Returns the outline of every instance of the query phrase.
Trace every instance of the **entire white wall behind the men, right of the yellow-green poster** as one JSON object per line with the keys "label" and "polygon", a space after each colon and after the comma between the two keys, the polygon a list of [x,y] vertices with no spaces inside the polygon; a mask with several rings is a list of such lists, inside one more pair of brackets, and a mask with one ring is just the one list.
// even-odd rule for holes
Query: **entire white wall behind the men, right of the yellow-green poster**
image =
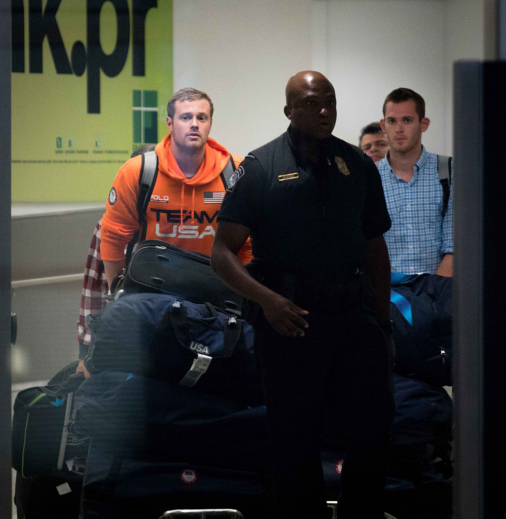
{"label": "entire white wall behind the men, right of the yellow-green poster", "polygon": [[357,143],[394,88],[425,98],[422,142],[452,153],[453,61],[483,57],[486,0],[173,0],[174,89],[206,90],[211,136],[246,154],[288,126],[284,88],[316,69],[334,84],[334,134]]}

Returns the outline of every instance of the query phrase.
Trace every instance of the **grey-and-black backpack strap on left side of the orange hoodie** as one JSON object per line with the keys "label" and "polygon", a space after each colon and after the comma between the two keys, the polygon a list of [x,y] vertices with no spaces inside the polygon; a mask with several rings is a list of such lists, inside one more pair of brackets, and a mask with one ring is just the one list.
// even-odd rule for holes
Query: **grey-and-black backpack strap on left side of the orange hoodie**
{"label": "grey-and-black backpack strap on left side of the orange hoodie", "polygon": [[143,153],[141,155],[141,171],[139,172],[139,195],[137,197],[137,214],[140,231],[136,231],[127,245],[127,252],[125,254],[126,264],[130,262],[133,249],[137,243],[146,239],[147,221],[146,210],[153,194],[153,189],[158,175],[158,155],[153,150],[151,152]]}

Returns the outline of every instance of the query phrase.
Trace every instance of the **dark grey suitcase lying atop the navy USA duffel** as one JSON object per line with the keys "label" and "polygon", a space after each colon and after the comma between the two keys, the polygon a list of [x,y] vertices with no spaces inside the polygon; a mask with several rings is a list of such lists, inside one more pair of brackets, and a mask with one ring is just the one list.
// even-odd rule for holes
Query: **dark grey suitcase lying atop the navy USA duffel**
{"label": "dark grey suitcase lying atop the navy USA duffel", "polygon": [[115,298],[139,292],[170,294],[192,303],[211,303],[237,315],[243,303],[215,274],[209,256],[160,240],[139,245],[111,292]]}

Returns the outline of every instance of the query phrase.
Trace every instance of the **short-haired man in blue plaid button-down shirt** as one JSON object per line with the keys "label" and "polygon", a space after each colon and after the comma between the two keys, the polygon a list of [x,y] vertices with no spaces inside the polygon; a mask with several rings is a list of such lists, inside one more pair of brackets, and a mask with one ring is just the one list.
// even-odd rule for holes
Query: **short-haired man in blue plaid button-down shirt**
{"label": "short-haired man in blue plaid button-down shirt", "polygon": [[392,220],[385,233],[391,270],[452,276],[453,186],[445,207],[437,155],[421,144],[430,122],[425,101],[409,88],[397,88],[387,95],[383,116],[389,151],[377,166]]}

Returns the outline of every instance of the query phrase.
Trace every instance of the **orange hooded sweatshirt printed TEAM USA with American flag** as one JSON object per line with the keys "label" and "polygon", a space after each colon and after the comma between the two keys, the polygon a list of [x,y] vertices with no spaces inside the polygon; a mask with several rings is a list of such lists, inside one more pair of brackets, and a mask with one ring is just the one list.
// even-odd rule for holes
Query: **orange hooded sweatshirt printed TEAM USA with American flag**
{"label": "orange hooded sweatshirt printed TEAM USA with American flag", "polygon": [[[146,240],[162,240],[181,249],[211,254],[216,233],[216,216],[225,196],[220,173],[230,153],[208,139],[206,154],[197,174],[187,179],[170,149],[170,134],[159,142],[158,175],[146,210]],[[241,159],[234,156],[236,167]],[[100,253],[103,260],[125,257],[125,246],[139,229],[137,196],[141,156],[119,168],[102,217]],[[238,254],[245,264],[252,259],[250,240]]]}

